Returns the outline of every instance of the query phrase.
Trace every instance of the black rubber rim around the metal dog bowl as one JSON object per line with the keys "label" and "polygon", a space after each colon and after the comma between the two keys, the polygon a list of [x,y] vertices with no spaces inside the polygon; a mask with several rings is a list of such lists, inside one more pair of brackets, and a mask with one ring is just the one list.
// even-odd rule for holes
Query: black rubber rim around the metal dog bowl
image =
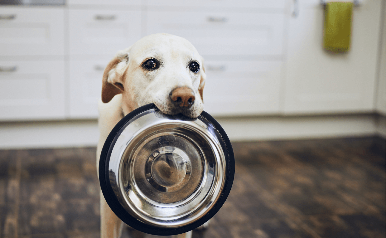
{"label": "black rubber rim around the metal dog bowl", "polygon": [[151,226],[149,224],[145,224],[138,219],[131,216],[119,203],[117,197],[115,196],[113,189],[110,184],[110,179],[108,176],[108,164],[110,162],[110,147],[113,147],[115,145],[116,136],[117,133],[120,131],[122,126],[124,126],[130,119],[135,117],[136,115],[145,112],[149,109],[157,109],[156,105],[154,104],[147,104],[142,107],[139,107],[129,114],[127,114],[124,118],[122,118],[117,125],[112,129],[110,134],[107,136],[107,139],[105,141],[105,144],[103,145],[102,152],[100,155],[99,160],[99,183],[100,187],[103,193],[103,196],[106,199],[106,202],[108,206],[110,206],[111,210],[118,216],[119,219],[121,219],[124,223],[128,224],[132,228],[142,231],[144,233],[148,233],[151,235],[177,235],[181,233],[185,233],[188,231],[191,231],[205,222],[207,222],[210,218],[212,218],[218,210],[222,207],[225,200],[227,199],[230,189],[232,188],[233,179],[235,175],[235,158],[233,154],[232,145],[230,144],[229,138],[227,134],[225,133],[224,129],[220,126],[220,124],[207,112],[203,111],[199,117],[204,117],[207,119],[212,125],[217,129],[217,131],[222,136],[223,141],[225,142],[225,148],[223,147],[223,151],[226,154],[227,153],[227,162],[226,162],[226,169],[227,169],[227,179],[225,180],[224,189],[222,193],[220,194],[220,198],[216,202],[216,204],[208,211],[205,216],[198,219],[194,223],[188,224],[186,226],[178,227],[178,228],[160,228],[157,226]]}

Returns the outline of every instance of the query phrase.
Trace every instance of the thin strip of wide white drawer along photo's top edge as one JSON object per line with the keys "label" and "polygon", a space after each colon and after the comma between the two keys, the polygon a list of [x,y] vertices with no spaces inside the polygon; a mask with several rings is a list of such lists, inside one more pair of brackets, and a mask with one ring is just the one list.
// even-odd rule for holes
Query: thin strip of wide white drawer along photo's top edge
{"label": "thin strip of wide white drawer along photo's top edge", "polygon": [[149,6],[179,6],[179,7],[256,7],[256,8],[284,8],[285,0],[147,0]]}

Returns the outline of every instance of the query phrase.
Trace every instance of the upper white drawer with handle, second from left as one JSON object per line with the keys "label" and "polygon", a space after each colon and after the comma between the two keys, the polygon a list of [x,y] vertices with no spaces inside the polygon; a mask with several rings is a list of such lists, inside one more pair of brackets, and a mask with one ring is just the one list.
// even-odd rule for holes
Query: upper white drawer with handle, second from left
{"label": "upper white drawer with handle, second from left", "polygon": [[115,55],[141,38],[141,11],[69,10],[70,54]]}

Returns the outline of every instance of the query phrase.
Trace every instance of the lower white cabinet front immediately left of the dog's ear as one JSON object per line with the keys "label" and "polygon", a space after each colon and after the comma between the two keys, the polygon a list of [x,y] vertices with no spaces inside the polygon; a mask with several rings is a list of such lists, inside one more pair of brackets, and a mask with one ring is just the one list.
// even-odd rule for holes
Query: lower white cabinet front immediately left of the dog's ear
{"label": "lower white cabinet front immediately left of the dog's ear", "polygon": [[97,118],[102,75],[108,60],[70,61],[70,117]]}

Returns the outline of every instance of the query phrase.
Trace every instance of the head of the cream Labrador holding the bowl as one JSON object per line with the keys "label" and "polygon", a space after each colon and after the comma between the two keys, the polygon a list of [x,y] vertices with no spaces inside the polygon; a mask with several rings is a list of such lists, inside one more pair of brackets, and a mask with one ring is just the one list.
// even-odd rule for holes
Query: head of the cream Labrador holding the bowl
{"label": "head of the cream Labrador holding the bowl", "polygon": [[122,93],[122,110],[154,103],[166,114],[198,117],[203,110],[203,59],[186,39],[153,34],[120,51],[103,73],[102,102]]}

